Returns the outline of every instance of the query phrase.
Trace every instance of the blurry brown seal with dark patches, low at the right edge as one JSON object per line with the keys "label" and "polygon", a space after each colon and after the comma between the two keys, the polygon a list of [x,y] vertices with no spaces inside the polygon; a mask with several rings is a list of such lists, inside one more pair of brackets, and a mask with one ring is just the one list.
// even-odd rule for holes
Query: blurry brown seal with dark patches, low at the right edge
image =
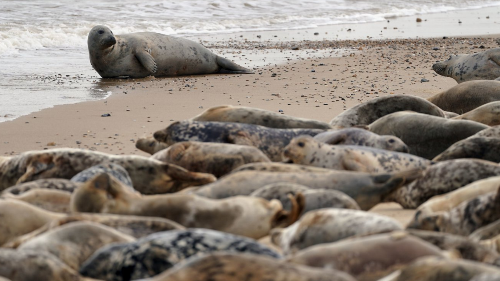
{"label": "blurry brown seal with dark patches, low at the right edge", "polygon": [[500,253],[472,239],[446,232],[411,229],[405,230],[412,236],[432,243],[442,250],[458,254],[457,257],[500,265]]}

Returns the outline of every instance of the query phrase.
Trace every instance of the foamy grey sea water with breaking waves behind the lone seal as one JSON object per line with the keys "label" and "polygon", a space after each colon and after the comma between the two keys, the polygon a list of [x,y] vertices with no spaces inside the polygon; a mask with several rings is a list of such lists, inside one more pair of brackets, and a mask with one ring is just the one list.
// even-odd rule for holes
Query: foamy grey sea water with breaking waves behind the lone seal
{"label": "foamy grey sea water with breaking waves behind the lone seal", "polygon": [[110,92],[88,61],[97,24],[185,37],[314,28],[499,6],[498,0],[0,0],[0,122]]}

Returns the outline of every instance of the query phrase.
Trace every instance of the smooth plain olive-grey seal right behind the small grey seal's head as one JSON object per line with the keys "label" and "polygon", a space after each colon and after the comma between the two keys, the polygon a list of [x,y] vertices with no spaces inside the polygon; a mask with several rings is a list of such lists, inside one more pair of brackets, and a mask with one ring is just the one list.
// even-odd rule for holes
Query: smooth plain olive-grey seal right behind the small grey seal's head
{"label": "smooth plain olive-grey seal right behind the small grey seal's head", "polygon": [[385,115],[368,125],[370,131],[399,137],[409,153],[434,158],[458,140],[488,128],[470,120],[453,120],[428,114],[402,111]]}

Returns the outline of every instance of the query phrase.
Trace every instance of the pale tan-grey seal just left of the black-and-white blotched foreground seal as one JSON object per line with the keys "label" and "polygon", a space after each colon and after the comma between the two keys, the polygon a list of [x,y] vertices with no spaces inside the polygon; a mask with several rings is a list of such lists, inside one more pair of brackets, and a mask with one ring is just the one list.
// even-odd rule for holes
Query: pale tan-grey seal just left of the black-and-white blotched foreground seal
{"label": "pale tan-grey seal just left of the black-and-white blotched foreground seal", "polygon": [[132,241],[135,241],[134,237],[103,224],[75,221],[33,237],[17,249],[50,252],[69,267],[78,270],[83,261],[100,247]]}

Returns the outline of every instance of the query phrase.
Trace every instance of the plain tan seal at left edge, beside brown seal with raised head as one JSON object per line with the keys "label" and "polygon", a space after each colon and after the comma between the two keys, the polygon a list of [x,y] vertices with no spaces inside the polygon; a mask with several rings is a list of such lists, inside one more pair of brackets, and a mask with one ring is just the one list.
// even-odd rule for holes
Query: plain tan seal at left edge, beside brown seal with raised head
{"label": "plain tan seal at left edge, beside brown seal with raised head", "polygon": [[58,189],[35,188],[18,195],[7,192],[0,197],[14,198],[49,211],[67,213],[71,193]]}

